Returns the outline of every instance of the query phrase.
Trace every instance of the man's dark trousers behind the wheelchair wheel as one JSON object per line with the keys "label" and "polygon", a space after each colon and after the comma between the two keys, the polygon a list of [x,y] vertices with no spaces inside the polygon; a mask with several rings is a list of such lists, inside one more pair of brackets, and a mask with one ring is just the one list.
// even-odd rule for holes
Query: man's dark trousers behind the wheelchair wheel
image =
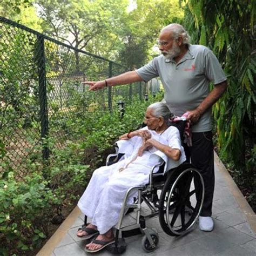
{"label": "man's dark trousers behind the wheelchair wheel", "polygon": [[[205,185],[205,198],[201,216],[212,215],[212,200],[214,192],[214,161],[212,131],[192,132],[192,146],[184,146],[187,159],[190,159],[201,173]],[[196,186],[196,184],[195,184]]]}

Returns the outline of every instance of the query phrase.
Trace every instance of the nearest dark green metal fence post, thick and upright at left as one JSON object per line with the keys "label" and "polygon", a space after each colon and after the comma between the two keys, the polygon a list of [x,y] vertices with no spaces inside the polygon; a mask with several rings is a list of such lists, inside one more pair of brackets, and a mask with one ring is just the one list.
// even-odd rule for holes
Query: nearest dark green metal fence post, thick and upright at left
{"label": "nearest dark green metal fence post, thick and upright at left", "polygon": [[[36,43],[36,63],[38,70],[39,83],[39,116],[41,121],[41,138],[46,138],[49,133],[48,110],[47,110],[47,93],[46,93],[46,70],[45,70],[45,54],[44,54],[44,37],[37,36]],[[43,159],[49,159],[49,148],[47,145],[43,146]]]}

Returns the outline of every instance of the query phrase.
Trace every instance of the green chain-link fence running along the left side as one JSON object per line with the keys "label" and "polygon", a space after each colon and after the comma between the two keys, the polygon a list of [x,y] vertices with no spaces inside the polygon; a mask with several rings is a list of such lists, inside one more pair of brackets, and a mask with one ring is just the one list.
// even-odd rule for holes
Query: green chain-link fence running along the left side
{"label": "green chain-link fence running along the left side", "polygon": [[[78,50],[21,24],[0,17],[0,136],[2,163],[18,176],[24,159],[50,135],[57,146],[79,136],[76,121],[88,110],[111,111],[118,100],[131,103],[159,90],[158,81],[89,92],[81,82],[126,71],[125,66]],[[151,89],[150,89],[151,88]],[[78,138],[77,138],[78,139]],[[37,152],[38,153],[38,152]],[[47,147],[43,158],[49,158]],[[5,165],[0,165],[0,172]]]}

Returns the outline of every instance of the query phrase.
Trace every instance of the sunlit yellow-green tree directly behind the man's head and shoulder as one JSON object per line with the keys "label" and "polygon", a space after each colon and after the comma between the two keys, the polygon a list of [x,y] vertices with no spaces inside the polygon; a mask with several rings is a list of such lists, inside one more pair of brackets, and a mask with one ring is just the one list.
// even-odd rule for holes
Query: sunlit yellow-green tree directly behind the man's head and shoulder
{"label": "sunlit yellow-green tree directly behind the man's head and shoulder", "polygon": [[179,1],[137,0],[123,30],[124,47],[119,53],[122,62],[133,69],[142,66],[155,55],[152,52],[163,26],[180,22],[184,12]]}

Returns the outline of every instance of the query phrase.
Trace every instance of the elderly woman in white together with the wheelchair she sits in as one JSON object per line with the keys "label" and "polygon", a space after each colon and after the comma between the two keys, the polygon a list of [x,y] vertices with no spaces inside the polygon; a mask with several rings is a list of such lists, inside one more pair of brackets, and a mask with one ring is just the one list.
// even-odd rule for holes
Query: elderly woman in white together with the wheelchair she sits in
{"label": "elderly woman in white together with the wheelchair she sits in", "polygon": [[[139,224],[139,230],[145,234],[144,250],[154,250],[158,243],[158,235],[153,231],[147,231],[145,219],[140,216],[142,201],[144,200],[147,203],[147,198],[151,200],[147,205],[151,208],[152,216],[162,212],[161,214],[164,217],[160,222],[162,222],[161,226],[166,233],[179,235],[194,224],[193,220],[198,217],[201,200],[203,200],[202,188],[197,191],[198,193],[196,193],[196,190],[194,190],[195,192],[190,192],[191,180],[195,178],[194,172],[192,176],[188,176],[186,173],[183,174],[183,179],[178,181],[176,187],[169,184],[164,188],[165,194],[161,195],[162,206],[160,208],[157,208],[159,207],[157,205],[157,201],[159,204],[157,190],[163,188],[163,180],[160,182],[160,187],[152,186],[155,173],[166,179],[166,170],[178,167],[186,160],[184,149],[181,146],[179,130],[174,126],[169,126],[170,116],[171,112],[164,103],[151,104],[145,113],[144,123],[146,126],[140,130],[123,134],[119,138],[117,145],[119,153],[124,153],[123,159],[112,165],[100,167],[93,172],[90,183],[78,201],[78,207],[85,214],[86,219],[87,217],[91,218],[91,223],[86,224],[85,219],[85,225],[79,228],[77,236],[83,239],[95,238],[86,245],[85,250],[87,252],[98,252],[112,244],[116,246],[114,252],[123,252],[122,249],[121,251],[117,250],[118,231],[122,224],[125,210],[129,207],[137,208],[139,211],[139,215],[137,213],[137,224]],[[165,167],[159,167],[161,163],[165,163]],[[159,169],[164,169],[164,171],[159,174]],[[191,170],[188,172],[191,173]],[[175,179],[180,176],[179,174],[180,172],[174,175]],[[172,177],[172,184],[175,183],[175,179]],[[197,178],[198,180],[201,181],[201,177]],[[181,183],[186,186],[186,193],[179,191],[180,189],[177,188]],[[148,184],[150,186],[145,192]],[[170,191],[171,196],[168,197]],[[200,198],[200,204],[191,206],[190,197],[187,197],[187,194],[196,194],[197,199],[198,197]],[[181,196],[186,197],[185,199],[183,198],[184,203],[182,206],[181,203],[177,203],[177,200],[180,202],[179,197]],[[137,203],[135,203],[135,199]],[[150,203],[153,203],[153,205],[150,206]],[[178,212],[177,205],[180,208]],[[194,218],[190,218],[188,221],[185,221],[184,217],[185,205],[187,208],[191,208],[192,215],[194,214]],[[176,211],[174,213],[173,208]],[[178,229],[172,230],[174,223],[170,223],[170,214],[181,214],[181,228],[178,227]],[[113,227],[117,224],[115,238]]]}

